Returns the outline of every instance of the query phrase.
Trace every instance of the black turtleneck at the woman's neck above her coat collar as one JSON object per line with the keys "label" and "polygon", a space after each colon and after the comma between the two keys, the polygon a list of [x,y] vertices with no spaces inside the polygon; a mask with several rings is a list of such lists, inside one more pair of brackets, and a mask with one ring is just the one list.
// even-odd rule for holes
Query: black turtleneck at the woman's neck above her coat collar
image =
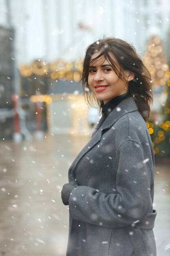
{"label": "black turtleneck at the woman's neck above her coat collar", "polygon": [[104,118],[108,117],[110,112],[124,99],[129,97],[129,92],[126,92],[124,94],[118,95],[117,97],[111,99],[108,101],[106,104],[103,102],[101,103],[101,108],[102,108],[102,115],[104,115]]}

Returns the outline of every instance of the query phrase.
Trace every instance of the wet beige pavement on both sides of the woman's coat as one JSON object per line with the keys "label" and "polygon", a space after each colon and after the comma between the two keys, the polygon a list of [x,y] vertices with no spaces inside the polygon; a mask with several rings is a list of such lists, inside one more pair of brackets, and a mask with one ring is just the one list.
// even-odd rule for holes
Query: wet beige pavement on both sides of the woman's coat
{"label": "wet beige pavement on both sides of the woman's coat", "polygon": [[[65,256],[68,168],[89,136],[0,142],[0,256]],[[170,166],[155,167],[157,256],[170,255]],[[169,248],[169,249],[168,249]]]}

